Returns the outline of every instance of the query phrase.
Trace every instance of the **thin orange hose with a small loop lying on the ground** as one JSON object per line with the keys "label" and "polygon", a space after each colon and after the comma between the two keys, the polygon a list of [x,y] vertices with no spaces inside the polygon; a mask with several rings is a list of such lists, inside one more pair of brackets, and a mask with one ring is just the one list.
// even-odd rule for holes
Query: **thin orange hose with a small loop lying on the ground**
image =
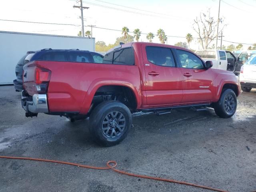
{"label": "thin orange hose with a small loop lying on the ground", "polygon": [[[115,172],[118,172],[118,173],[121,173],[121,174],[125,174],[125,175],[129,175],[129,176],[133,176],[133,177],[140,177],[140,178],[153,179],[153,180],[158,180],[158,181],[166,181],[166,182],[171,182],[171,183],[190,185],[190,186],[204,188],[204,189],[209,189],[209,190],[218,191],[218,192],[228,192],[228,191],[225,191],[225,190],[211,188],[211,187],[207,187],[207,186],[203,186],[203,185],[197,185],[197,184],[188,183],[188,182],[184,182],[184,181],[178,181],[178,180],[166,179],[166,178],[159,178],[159,177],[152,177],[152,176],[146,176],[146,175],[138,175],[138,174],[134,174],[134,173],[129,173],[129,172],[121,171],[121,170],[118,170],[118,169],[115,168],[117,166],[117,162],[116,161],[108,161],[106,167],[94,167],[94,166],[82,165],[82,164],[77,164],[77,163],[70,163],[70,162],[65,162],[65,161],[56,161],[56,160],[48,160],[48,159],[37,159],[37,158],[30,158],[30,157],[0,156],[0,158],[44,161],[44,162],[52,162],[52,163],[74,165],[74,166],[78,166],[78,167],[89,168],[89,169],[98,169],[98,170],[112,169]],[[113,165],[111,165],[111,164],[113,164]]]}

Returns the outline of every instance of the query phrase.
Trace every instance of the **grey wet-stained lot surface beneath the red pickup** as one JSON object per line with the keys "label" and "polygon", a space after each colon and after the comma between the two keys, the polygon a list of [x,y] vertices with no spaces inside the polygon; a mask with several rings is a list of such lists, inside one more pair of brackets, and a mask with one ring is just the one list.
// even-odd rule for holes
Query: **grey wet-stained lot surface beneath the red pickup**
{"label": "grey wet-stained lot surface beneath the red pickup", "polygon": [[[214,110],[173,110],[134,117],[128,137],[100,147],[88,120],[26,118],[20,92],[0,86],[0,155],[46,158],[117,168],[228,190],[256,190],[256,90],[242,92],[229,119]],[[0,159],[0,192],[206,192],[210,190],[47,162]]]}

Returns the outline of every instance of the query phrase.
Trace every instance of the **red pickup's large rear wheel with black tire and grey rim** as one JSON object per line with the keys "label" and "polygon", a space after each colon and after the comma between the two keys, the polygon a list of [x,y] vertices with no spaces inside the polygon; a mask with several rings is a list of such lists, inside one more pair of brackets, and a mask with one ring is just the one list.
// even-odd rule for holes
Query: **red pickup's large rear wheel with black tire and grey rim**
{"label": "red pickup's large rear wheel with black tire and grey rim", "polygon": [[98,144],[114,146],[126,138],[132,127],[132,114],[118,101],[100,103],[90,115],[90,134]]}

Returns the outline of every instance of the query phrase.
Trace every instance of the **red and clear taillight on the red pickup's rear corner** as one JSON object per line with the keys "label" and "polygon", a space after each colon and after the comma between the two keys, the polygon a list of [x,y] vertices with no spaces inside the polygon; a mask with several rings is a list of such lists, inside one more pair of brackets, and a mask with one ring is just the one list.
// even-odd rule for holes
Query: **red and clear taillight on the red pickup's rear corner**
{"label": "red and clear taillight on the red pickup's rear corner", "polygon": [[35,69],[35,88],[37,92],[47,92],[51,77],[51,71],[45,68],[36,67]]}

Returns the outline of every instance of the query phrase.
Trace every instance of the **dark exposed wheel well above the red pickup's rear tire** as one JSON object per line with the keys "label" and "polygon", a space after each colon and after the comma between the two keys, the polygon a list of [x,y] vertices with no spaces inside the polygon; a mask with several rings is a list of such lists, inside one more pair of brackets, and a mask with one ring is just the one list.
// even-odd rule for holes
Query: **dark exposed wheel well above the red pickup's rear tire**
{"label": "dark exposed wheel well above the red pickup's rear tire", "polygon": [[107,100],[116,100],[125,104],[131,111],[136,110],[137,101],[132,89],[126,86],[107,85],[98,88],[92,100],[92,108]]}

